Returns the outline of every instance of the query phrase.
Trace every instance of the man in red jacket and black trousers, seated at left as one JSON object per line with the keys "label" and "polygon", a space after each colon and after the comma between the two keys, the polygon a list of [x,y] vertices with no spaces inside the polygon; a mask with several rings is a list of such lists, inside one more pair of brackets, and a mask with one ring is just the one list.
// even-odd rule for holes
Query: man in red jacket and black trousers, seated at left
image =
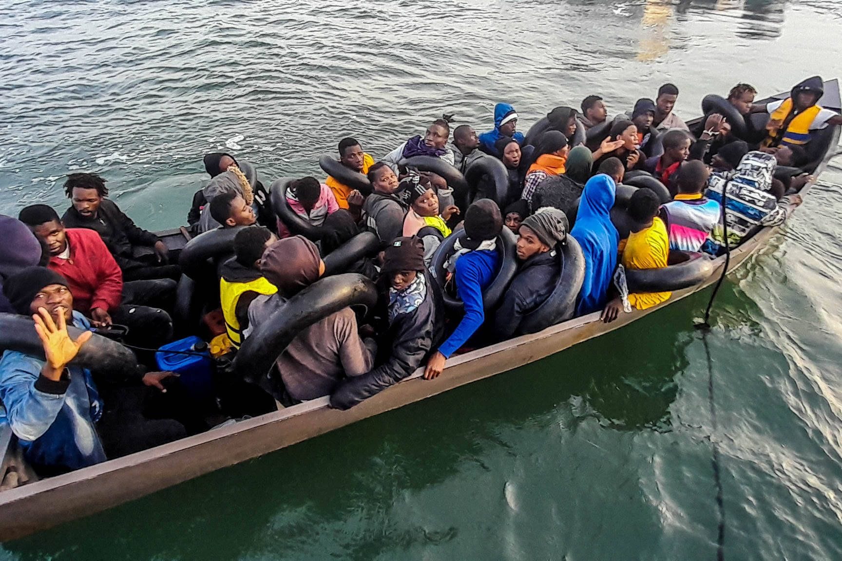
{"label": "man in red jacket and black trousers, seated at left", "polygon": [[58,214],[46,204],[20,211],[18,220],[35,233],[50,251],[47,267],[67,278],[73,309],[91,318],[94,326],[112,324],[129,328],[126,342],[157,348],[173,334],[173,320],[159,308],[171,300],[175,281],[142,280],[123,283],[123,273],[104,241],[93,230],[65,229]]}

